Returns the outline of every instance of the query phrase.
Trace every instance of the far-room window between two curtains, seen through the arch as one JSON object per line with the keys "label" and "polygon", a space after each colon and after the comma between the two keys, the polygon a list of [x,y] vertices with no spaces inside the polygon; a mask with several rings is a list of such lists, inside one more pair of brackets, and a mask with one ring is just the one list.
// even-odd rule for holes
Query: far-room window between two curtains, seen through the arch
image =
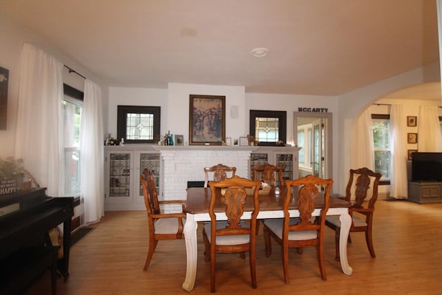
{"label": "far-room window between two curtains, seen through the arch", "polygon": [[374,171],[390,180],[390,115],[372,115]]}

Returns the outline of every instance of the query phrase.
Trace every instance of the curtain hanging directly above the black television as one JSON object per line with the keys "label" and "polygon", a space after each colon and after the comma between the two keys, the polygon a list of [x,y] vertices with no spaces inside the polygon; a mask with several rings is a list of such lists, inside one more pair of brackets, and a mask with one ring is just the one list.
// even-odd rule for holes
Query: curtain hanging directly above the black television
{"label": "curtain hanging directly above the black television", "polygon": [[442,135],[437,106],[419,106],[417,128],[419,151],[442,152]]}

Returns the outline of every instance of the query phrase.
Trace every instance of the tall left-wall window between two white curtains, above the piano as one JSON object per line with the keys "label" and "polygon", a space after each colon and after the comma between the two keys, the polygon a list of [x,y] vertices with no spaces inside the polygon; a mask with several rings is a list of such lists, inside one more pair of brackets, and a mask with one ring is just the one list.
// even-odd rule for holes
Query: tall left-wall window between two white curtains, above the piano
{"label": "tall left-wall window between two white curtains, above the piano", "polygon": [[64,142],[64,195],[80,193],[80,124],[84,93],[64,84],[63,142]]}

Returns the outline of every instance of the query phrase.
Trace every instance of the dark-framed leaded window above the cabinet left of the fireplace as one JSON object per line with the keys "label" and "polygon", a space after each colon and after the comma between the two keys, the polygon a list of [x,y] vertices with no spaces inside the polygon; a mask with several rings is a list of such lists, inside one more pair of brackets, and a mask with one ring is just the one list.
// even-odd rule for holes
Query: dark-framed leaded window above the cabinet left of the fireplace
{"label": "dark-framed leaded window above the cabinet left of the fireplace", "polygon": [[160,106],[118,106],[117,139],[127,143],[160,140]]}

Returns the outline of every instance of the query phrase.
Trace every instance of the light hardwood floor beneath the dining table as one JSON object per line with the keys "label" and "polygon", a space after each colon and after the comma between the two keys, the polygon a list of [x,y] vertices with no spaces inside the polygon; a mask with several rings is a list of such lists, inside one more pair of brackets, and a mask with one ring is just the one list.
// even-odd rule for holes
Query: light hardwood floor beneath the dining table
{"label": "light hardwood floor beneath the dining table", "polygon": [[[110,211],[96,229],[71,250],[70,276],[57,282],[58,294],[186,294],[184,240],[160,241],[151,265],[143,272],[148,229],[144,211]],[[442,294],[442,204],[414,204],[378,200],[374,216],[371,258],[362,233],[352,234],[346,276],[334,260],[334,231],[327,229],[327,281],[320,278],[316,252],[291,250],[291,284],[285,285],[280,248],[264,255],[262,229],[257,243],[258,289],[251,289],[248,259],[237,254],[217,256],[217,294]],[[201,227],[198,228],[198,270],[191,294],[210,291],[209,263],[204,263]],[[42,278],[27,295],[48,294]]]}

